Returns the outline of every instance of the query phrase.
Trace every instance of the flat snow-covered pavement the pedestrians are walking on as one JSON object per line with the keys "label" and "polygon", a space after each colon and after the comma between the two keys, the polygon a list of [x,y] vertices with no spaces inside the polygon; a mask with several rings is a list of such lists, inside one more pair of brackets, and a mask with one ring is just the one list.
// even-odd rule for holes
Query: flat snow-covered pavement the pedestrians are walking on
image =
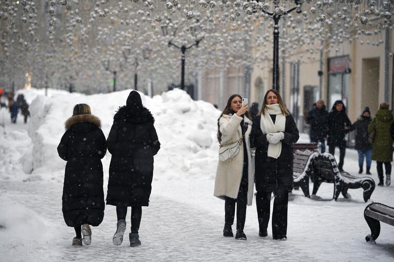
{"label": "flat snow-covered pavement the pedestrians are walking on", "polygon": [[[224,202],[212,197],[213,181],[156,181],[153,183],[151,203],[143,208],[140,228],[142,246],[130,248],[127,234],[124,243],[112,244],[116,229],[115,207],[106,206],[103,223],[92,228],[90,246],[71,246],[73,228],[67,227],[62,215],[62,184],[57,182],[2,182],[1,198],[23,205],[42,218],[51,235],[41,239],[34,226],[36,241],[28,243],[13,236],[2,240],[2,253],[8,261],[392,261],[394,242],[391,226],[382,223],[378,244],[365,242],[369,233],[363,217],[366,204],[362,190],[352,190],[353,200],[329,200],[332,185],[323,185],[320,195],[324,201],[303,197],[301,191],[291,195],[289,203],[288,241],[274,241],[271,225],[268,237],[258,236],[255,205],[248,207],[245,233],[247,241],[236,241],[222,236]],[[360,191],[360,192],[359,192]],[[391,188],[377,188],[373,200],[383,201]],[[128,220],[130,209],[128,210]],[[27,217],[29,219],[29,217]],[[129,226],[129,225],[128,225]],[[129,228],[129,227],[128,227]],[[29,229],[29,228],[28,228]],[[235,225],[233,226],[235,230]],[[1,235],[0,231],[0,235]],[[6,241],[6,242],[5,242]],[[5,253],[4,253],[5,252]]]}

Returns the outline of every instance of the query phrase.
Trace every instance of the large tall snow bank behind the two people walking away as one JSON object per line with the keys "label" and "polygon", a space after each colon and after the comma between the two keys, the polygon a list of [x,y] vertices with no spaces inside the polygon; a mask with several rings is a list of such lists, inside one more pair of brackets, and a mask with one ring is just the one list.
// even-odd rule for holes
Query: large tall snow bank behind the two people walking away
{"label": "large tall snow bank behind the two people walking away", "polygon": [[[130,91],[91,96],[77,93],[57,93],[51,97],[37,95],[29,107],[28,133],[32,140],[33,174],[64,169],[66,162],[58,157],[56,147],[75,104],[89,104],[92,114],[101,119],[103,132],[108,136],[113,115],[119,106],[126,103]],[[28,96],[34,95],[30,93]],[[218,161],[216,121],[220,111],[208,102],[193,101],[181,90],[153,98],[144,94],[141,97],[155,117],[155,128],[162,144],[155,157],[154,178],[213,178]],[[109,162],[110,154],[107,153],[103,159],[106,174]]]}

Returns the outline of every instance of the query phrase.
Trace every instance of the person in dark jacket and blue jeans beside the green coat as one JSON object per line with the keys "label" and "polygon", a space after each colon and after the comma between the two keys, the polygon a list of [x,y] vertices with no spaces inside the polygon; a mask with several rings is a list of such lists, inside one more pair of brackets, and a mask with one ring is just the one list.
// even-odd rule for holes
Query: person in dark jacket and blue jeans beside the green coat
{"label": "person in dark jacket and blue jeans beside the green coat", "polygon": [[350,130],[356,130],[356,145],[354,149],[357,150],[359,155],[359,174],[363,172],[364,157],[366,162],[366,174],[370,173],[371,157],[372,157],[372,144],[368,141],[368,125],[371,122],[369,107],[366,106],[361,117],[352,124]]}

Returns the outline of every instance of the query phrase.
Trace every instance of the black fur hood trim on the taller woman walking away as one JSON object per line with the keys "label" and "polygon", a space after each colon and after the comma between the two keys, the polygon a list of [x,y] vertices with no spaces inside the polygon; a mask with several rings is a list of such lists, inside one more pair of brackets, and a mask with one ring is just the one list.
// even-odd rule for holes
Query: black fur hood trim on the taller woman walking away
{"label": "black fur hood trim on the taller woman walking away", "polygon": [[116,114],[113,116],[114,121],[126,121],[131,123],[154,123],[154,117],[152,113],[145,106],[142,110],[137,110],[133,107],[121,106]]}

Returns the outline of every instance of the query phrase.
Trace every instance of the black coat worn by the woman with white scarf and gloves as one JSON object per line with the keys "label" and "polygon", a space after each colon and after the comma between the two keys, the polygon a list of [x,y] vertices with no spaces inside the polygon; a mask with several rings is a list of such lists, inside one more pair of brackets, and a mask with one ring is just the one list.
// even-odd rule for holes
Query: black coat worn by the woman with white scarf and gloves
{"label": "black coat worn by the woman with white scarf and gloves", "polygon": [[[272,118],[273,122],[274,119]],[[278,159],[267,156],[268,141],[260,129],[261,115],[253,119],[250,146],[256,147],[254,180],[257,191],[282,191],[293,188],[293,144],[300,138],[297,125],[291,115],[286,117],[285,138]]]}

